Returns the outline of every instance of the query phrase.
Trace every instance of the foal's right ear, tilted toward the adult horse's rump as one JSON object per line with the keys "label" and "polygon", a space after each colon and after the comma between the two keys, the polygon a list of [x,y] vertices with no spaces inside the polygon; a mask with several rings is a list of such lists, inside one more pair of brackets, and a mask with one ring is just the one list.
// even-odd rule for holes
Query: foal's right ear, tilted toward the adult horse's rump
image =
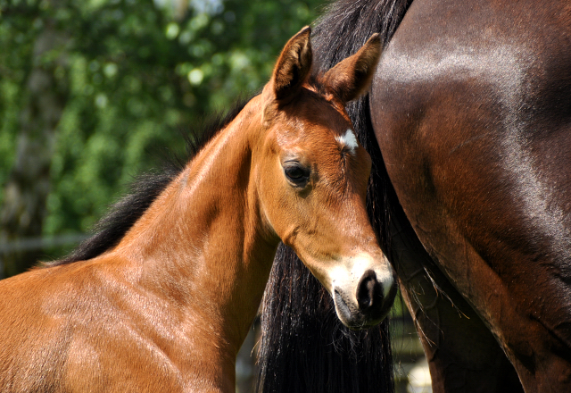
{"label": "foal's right ear, tilted toward the adult horse's rump", "polygon": [[356,54],[326,72],[323,77],[325,88],[343,103],[354,100],[368,89],[380,57],[381,38],[375,33]]}

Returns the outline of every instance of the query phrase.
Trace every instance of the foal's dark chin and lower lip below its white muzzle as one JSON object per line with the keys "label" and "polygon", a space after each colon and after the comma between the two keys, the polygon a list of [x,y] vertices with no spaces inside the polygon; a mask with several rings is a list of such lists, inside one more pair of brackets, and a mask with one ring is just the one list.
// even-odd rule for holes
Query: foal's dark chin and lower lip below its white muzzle
{"label": "foal's dark chin and lower lip below its white muzzle", "polygon": [[352,330],[363,330],[372,328],[386,318],[393,306],[394,297],[396,296],[396,286],[391,288],[388,296],[385,297],[383,306],[375,310],[361,311],[352,301],[345,300],[343,294],[334,291],[333,300],[335,303],[335,313],[339,320]]}

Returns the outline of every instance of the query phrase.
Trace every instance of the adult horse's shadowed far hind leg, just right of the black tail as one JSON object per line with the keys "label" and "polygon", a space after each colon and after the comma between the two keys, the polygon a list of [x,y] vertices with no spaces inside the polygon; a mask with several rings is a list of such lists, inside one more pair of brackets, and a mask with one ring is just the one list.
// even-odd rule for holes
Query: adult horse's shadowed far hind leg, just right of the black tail
{"label": "adult horse's shadowed far hind leg, just right of the black tail", "polygon": [[391,228],[391,259],[430,366],[434,392],[523,391],[492,333],[426,254],[408,222]]}

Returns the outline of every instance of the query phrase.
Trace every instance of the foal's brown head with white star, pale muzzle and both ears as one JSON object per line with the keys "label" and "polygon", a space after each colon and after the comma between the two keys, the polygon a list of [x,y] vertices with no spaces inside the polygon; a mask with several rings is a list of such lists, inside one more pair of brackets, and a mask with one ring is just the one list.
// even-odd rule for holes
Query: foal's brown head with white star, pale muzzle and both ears
{"label": "foal's brown head with white star, pale muzzle and both ears", "polygon": [[310,80],[310,29],[291,38],[262,92],[268,132],[254,163],[269,232],[294,248],[352,328],[380,322],[396,291],[365,207],[371,160],[344,110],[368,89],[380,52],[376,35]]}

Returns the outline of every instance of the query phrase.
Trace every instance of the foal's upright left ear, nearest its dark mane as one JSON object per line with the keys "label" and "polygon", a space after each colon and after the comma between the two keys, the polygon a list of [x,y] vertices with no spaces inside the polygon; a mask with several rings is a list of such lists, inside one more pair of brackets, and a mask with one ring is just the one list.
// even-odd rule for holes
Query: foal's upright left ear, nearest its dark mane
{"label": "foal's upright left ear, nearest its dark mane", "polygon": [[277,59],[272,76],[278,101],[294,97],[302,88],[311,71],[311,29],[304,27],[285,44]]}

